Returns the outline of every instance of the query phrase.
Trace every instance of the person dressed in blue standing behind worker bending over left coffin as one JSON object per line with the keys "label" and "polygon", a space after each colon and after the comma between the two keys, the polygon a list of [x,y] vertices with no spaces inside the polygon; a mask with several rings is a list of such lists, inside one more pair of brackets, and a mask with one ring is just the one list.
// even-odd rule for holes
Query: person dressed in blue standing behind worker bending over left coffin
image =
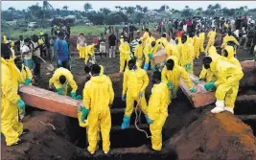
{"label": "person dressed in blue standing behind worker bending over left coffin", "polygon": [[70,70],[68,44],[64,39],[64,33],[58,33],[58,39],[55,41],[54,49],[57,56],[58,68],[63,67]]}

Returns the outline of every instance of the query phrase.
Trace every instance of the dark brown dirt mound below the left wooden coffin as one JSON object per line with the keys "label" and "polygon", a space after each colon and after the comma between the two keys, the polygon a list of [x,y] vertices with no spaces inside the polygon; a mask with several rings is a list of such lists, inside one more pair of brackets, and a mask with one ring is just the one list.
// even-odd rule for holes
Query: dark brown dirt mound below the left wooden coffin
{"label": "dark brown dirt mound below the left wooden coffin", "polygon": [[[51,123],[56,127],[42,125],[40,122]],[[64,116],[47,112],[34,111],[31,117],[24,121],[24,128],[30,132],[22,139],[24,143],[19,146],[7,147],[2,136],[1,159],[71,159],[76,147],[68,141],[65,135]]]}

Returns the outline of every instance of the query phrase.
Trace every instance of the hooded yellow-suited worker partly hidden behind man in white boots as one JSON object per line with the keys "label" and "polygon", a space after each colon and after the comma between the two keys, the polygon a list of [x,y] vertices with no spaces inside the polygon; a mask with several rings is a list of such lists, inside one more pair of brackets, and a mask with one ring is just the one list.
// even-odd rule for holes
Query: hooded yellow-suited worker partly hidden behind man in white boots
{"label": "hooded yellow-suited worker partly hidden behind man in white boots", "polygon": [[242,66],[239,62],[239,60],[235,57],[235,49],[232,46],[226,46],[224,50],[222,51],[221,55],[223,57],[226,57],[226,59],[235,66],[242,69]]}

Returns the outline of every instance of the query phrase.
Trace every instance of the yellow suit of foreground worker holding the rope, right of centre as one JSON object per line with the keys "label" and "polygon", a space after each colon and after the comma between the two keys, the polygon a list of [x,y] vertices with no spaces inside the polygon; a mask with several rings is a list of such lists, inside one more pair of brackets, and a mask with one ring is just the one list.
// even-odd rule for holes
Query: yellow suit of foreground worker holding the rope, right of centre
{"label": "yellow suit of foreground worker holding the rope, right of centre", "polygon": [[168,117],[169,90],[165,82],[154,84],[151,89],[151,98],[148,106],[148,116],[152,120],[151,147],[154,150],[162,149],[162,127]]}

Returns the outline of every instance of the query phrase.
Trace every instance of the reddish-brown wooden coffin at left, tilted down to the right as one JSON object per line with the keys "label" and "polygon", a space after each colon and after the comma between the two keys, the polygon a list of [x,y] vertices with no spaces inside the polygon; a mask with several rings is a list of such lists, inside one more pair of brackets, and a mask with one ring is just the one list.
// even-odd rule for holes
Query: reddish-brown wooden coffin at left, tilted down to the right
{"label": "reddish-brown wooden coffin at left, tilted down to the right", "polygon": [[55,92],[38,88],[33,85],[23,85],[19,88],[21,99],[27,104],[39,109],[60,113],[77,118],[77,105],[81,101],[73,100],[67,96],[58,95]]}

